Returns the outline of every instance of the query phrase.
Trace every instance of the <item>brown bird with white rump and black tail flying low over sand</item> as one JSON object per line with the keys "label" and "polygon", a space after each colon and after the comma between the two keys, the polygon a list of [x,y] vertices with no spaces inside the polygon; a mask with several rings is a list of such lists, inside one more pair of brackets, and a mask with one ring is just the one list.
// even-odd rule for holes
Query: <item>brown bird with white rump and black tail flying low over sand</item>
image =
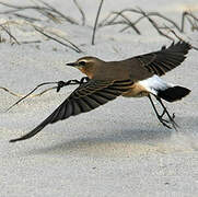
{"label": "brown bird with white rump and black tail flying low over sand", "polygon": [[[147,96],[160,123],[176,129],[178,125],[174,120],[175,115],[168,113],[162,100],[170,103],[179,101],[188,95],[190,90],[168,83],[161,76],[178,67],[190,49],[190,44],[179,40],[168,47],[163,46],[160,50],[120,61],[104,61],[97,57],[85,56],[66,63],[79,69],[86,77],[82,78],[79,86],[37,127],[20,138],[11,139],[10,142],[32,138],[49,124],[88,113],[118,96]],[[59,89],[65,85],[60,84]],[[162,114],[158,112],[151,96],[163,107]],[[168,120],[163,118],[164,115]]]}

